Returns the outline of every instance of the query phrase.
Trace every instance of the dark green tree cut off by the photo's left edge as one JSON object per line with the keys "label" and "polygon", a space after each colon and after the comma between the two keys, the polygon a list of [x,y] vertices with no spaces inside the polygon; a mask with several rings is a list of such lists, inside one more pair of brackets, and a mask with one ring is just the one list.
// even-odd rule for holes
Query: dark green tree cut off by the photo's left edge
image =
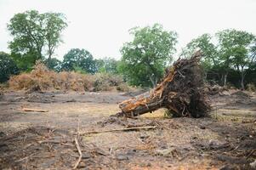
{"label": "dark green tree cut off by the photo's left edge", "polygon": [[6,82],[11,75],[19,72],[14,60],[4,52],[0,52],[0,82]]}

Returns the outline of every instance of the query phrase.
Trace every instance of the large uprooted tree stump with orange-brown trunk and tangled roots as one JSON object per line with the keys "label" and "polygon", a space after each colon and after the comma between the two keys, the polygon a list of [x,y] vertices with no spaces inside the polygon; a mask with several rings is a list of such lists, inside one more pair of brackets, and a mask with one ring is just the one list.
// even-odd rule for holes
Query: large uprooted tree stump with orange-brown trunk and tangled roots
{"label": "large uprooted tree stump with orange-brown trunk and tangled roots", "polygon": [[174,116],[206,116],[210,107],[202,91],[200,58],[198,51],[191,59],[178,59],[156,88],[122,101],[117,116],[139,116],[159,108],[167,108]]}

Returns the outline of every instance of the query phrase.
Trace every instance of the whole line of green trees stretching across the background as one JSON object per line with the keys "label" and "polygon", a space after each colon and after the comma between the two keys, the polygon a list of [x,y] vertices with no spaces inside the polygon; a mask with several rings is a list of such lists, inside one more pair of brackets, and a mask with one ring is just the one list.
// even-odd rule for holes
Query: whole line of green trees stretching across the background
{"label": "whole line of green trees stretching across the background", "polygon": [[[54,71],[120,74],[131,85],[154,87],[177,55],[178,33],[155,24],[129,31],[134,39],[123,44],[120,60],[94,59],[88,50],[72,48],[60,61],[53,56],[67,26],[65,15],[60,13],[31,10],[15,14],[7,26],[13,37],[10,54],[0,53],[0,82],[21,71],[31,71],[40,59]],[[196,50],[203,54],[206,81],[242,89],[247,83],[256,83],[256,37],[252,33],[235,29],[205,33],[182,48],[179,57],[190,57]]]}

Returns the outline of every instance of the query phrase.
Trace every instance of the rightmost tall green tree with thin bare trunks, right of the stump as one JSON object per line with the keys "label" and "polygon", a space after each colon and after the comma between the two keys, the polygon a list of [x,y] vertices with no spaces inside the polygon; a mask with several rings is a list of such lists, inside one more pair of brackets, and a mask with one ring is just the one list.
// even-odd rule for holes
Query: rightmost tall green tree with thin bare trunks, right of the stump
{"label": "rightmost tall green tree with thin bare trunks, right of the stump", "polygon": [[255,40],[253,34],[247,31],[224,30],[217,34],[219,40],[219,57],[224,71],[224,85],[230,68],[234,67],[241,72],[241,87],[244,89],[245,69],[252,59],[249,55],[249,47]]}

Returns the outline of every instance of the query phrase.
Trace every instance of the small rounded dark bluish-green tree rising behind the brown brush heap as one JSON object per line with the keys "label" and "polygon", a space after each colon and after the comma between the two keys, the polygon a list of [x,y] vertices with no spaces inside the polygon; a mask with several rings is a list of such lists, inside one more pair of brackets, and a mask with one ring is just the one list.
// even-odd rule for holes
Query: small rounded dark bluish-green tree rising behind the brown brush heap
{"label": "small rounded dark bluish-green tree rising behind the brown brush heap", "polygon": [[85,49],[73,48],[64,55],[62,69],[65,71],[82,70],[94,74],[97,71],[96,61]]}

